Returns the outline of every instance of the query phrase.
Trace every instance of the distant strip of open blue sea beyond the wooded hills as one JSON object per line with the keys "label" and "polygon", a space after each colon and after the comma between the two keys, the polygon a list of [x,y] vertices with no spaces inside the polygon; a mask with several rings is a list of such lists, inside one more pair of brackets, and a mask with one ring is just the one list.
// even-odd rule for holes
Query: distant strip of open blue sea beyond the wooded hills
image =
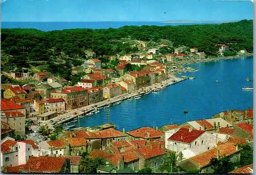
{"label": "distant strip of open blue sea beyond the wooded hills", "polygon": [[109,29],[123,26],[180,26],[192,24],[221,24],[221,22],[166,23],[161,21],[106,21],[106,22],[2,22],[2,29],[38,29],[54,31],[64,29]]}

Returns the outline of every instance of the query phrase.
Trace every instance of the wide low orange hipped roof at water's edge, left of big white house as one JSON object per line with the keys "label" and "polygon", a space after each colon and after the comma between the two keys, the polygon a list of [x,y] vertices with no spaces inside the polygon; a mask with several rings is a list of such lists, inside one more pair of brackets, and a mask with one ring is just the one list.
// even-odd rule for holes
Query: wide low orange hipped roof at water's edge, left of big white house
{"label": "wide low orange hipped roof at water's edge, left of big white house", "polygon": [[133,131],[129,131],[127,134],[133,137],[147,138],[147,132],[149,132],[150,138],[158,138],[164,135],[164,133],[150,127],[142,127]]}

